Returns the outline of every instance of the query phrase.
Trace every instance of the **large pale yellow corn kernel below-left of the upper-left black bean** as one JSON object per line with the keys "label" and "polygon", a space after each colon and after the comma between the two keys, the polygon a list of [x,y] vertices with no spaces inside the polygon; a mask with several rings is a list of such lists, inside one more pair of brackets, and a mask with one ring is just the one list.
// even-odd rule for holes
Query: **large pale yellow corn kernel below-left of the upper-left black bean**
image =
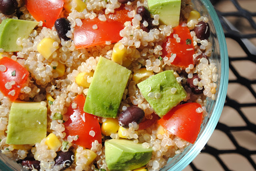
{"label": "large pale yellow corn kernel below-left of the upper-left black bean", "polygon": [[59,48],[53,47],[53,43],[55,41],[51,38],[44,38],[41,42],[37,45],[37,51],[45,58],[48,59],[52,55],[52,53]]}

